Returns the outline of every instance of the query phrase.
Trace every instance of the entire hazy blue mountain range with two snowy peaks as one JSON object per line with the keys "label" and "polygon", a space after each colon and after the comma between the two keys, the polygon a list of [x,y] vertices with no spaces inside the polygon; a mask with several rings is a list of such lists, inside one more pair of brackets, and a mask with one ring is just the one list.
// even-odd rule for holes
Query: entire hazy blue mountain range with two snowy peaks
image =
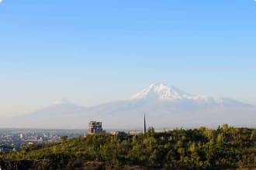
{"label": "entire hazy blue mountain range with two snowy peaks", "polygon": [[[227,98],[192,95],[177,87],[151,84],[127,100],[81,107],[67,100],[6,121],[16,128],[87,128],[102,121],[103,128],[142,129],[216,127],[219,124],[256,127],[256,107]],[[5,123],[6,123],[5,122]]]}

